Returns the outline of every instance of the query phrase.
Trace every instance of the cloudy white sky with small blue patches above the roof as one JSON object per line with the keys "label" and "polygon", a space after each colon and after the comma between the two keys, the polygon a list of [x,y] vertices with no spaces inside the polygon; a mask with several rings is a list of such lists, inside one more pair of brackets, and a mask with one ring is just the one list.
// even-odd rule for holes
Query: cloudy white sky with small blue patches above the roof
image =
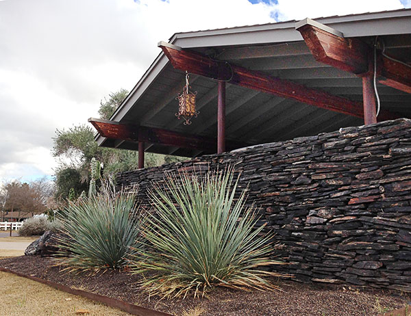
{"label": "cloudy white sky with small blue patches above the roof", "polygon": [[0,181],[52,176],[56,129],[132,90],[174,33],[411,8],[411,0],[0,0]]}

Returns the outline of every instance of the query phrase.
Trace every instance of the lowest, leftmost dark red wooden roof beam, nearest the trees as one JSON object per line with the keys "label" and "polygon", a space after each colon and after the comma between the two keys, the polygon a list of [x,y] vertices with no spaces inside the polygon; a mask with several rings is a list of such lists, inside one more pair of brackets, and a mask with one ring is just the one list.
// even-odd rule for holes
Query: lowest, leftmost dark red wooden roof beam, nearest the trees
{"label": "lowest, leftmost dark red wooden roof beam, nearest the trees", "polygon": [[[145,142],[173,146],[178,148],[192,148],[201,150],[205,153],[215,153],[217,142],[210,137],[199,135],[188,135],[177,133],[166,129],[155,129],[153,127],[142,127],[132,124],[122,124],[110,120],[100,120],[89,118],[90,122],[99,134],[112,140],[129,140],[133,142]],[[229,142],[227,149],[233,150],[242,148],[247,144],[240,142]]]}

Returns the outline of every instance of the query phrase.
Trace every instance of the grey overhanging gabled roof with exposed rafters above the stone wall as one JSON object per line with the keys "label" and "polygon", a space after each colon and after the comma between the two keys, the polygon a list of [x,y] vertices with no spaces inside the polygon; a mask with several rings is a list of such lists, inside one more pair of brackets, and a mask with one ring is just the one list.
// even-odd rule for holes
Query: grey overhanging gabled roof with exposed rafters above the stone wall
{"label": "grey overhanging gabled roof with exposed rafters above the stone wall", "polygon": [[[317,22],[343,32],[345,38],[361,38],[372,43],[384,40],[386,53],[411,62],[411,10],[397,10],[317,18]],[[359,77],[316,62],[295,30],[295,21],[193,31],[175,34],[170,42],[183,49],[205,53],[251,70],[319,88],[354,101],[362,100]],[[175,118],[175,96],[184,85],[184,73],[175,70],[160,53],[110,120],[167,129],[179,133],[216,137],[216,81],[191,75],[201,112],[190,126]],[[411,95],[378,85],[382,109],[411,115]],[[227,140],[261,144],[314,135],[340,127],[362,124],[362,119],[338,114],[238,85],[227,84]],[[112,140],[97,135],[99,146],[136,149],[131,141]],[[147,151],[171,155],[200,155],[199,150],[167,148],[155,144]]]}

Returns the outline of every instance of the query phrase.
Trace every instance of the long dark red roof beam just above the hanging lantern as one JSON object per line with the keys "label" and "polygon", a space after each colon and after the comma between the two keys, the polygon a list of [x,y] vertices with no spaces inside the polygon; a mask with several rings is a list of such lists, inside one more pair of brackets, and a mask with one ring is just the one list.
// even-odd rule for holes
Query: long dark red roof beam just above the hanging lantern
{"label": "long dark red roof beam just above the hanging lantern", "polygon": [[[285,79],[272,77],[255,70],[248,70],[236,64],[213,60],[201,53],[187,51],[165,42],[160,42],[158,45],[176,69],[216,80],[227,81],[245,88],[275,94],[283,98],[293,98],[302,103],[350,116],[364,117],[361,102],[351,101],[347,98],[335,96],[325,91],[309,88]],[[381,111],[379,120],[390,120],[399,117],[401,116],[391,114],[388,111]]]}

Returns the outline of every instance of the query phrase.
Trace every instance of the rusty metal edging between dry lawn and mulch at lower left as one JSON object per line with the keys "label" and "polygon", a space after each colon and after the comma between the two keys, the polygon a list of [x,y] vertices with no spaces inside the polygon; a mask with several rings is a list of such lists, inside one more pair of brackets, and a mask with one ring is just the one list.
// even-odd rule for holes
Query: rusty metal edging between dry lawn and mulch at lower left
{"label": "rusty metal edging between dry lawn and mulch at lower left", "polygon": [[53,287],[54,289],[58,289],[59,291],[64,291],[66,293],[70,293],[73,295],[82,296],[83,298],[88,298],[89,300],[93,300],[96,302],[100,302],[105,304],[106,306],[121,309],[121,311],[125,311],[132,315],[138,316],[173,316],[171,314],[162,313],[159,311],[153,311],[152,309],[145,308],[142,306],[137,306],[134,304],[130,304],[124,302],[122,300],[116,300],[115,298],[109,298],[108,296],[90,293],[87,291],[83,291],[80,289],[73,289],[71,287],[67,287],[66,285],[61,285],[59,283],[51,282],[49,280],[45,280],[43,278],[37,278],[36,276],[28,276],[27,274],[21,274],[20,272],[16,272],[10,269],[6,269],[4,267],[0,267],[1,272],[8,272],[11,274],[15,274],[16,276],[21,276],[23,278],[28,278],[30,280],[34,280],[36,282],[40,282],[42,284],[48,285],[49,287]]}

